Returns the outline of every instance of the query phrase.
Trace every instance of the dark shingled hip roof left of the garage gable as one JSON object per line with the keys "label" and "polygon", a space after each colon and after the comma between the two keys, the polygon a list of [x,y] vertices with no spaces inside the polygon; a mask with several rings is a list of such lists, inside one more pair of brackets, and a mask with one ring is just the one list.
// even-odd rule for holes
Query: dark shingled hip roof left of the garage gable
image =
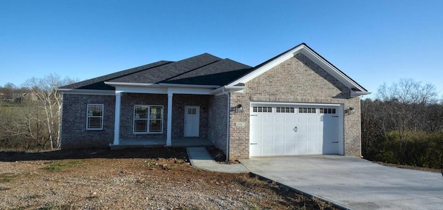
{"label": "dark shingled hip roof left of the garage gable", "polygon": [[251,66],[204,53],[181,61],[158,61],[60,88],[115,90],[105,82],[222,86],[251,70]]}

